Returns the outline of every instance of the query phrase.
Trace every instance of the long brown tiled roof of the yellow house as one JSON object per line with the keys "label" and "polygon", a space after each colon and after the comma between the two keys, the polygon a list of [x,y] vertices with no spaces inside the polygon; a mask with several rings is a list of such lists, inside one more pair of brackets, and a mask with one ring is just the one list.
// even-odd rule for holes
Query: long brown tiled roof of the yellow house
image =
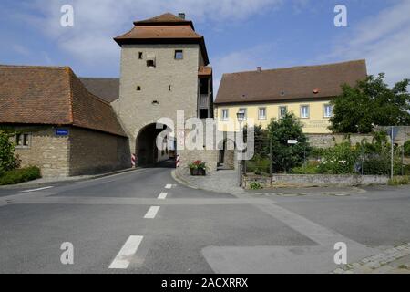
{"label": "long brown tiled roof of the yellow house", "polygon": [[354,86],[366,76],[365,60],[224,74],[215,103],[332,98],[344,83]]}

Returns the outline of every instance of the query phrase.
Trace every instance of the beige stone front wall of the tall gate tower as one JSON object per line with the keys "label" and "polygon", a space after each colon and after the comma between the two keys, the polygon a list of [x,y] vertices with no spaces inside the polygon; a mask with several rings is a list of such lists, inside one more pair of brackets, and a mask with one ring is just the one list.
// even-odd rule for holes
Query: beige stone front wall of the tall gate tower
{"label": "beige stone front wall of the tall gate tower", "polygon": [[[183,50],[183,59],[174,59],[176,49]],[[149,56],[155,56],[155,68],[147,67]],[[199,66],[199,45],[122,46],[120,97],[113,108],[132,152],[139,130],[159,118],[170,118],[176,124],[177,110],[185,111],[185,119],[197,116]]]}

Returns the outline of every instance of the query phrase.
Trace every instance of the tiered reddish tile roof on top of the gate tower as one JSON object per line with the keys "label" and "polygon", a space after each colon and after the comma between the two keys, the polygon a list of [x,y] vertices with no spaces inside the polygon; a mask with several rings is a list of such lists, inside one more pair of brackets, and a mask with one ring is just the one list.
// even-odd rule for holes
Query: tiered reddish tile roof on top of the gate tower
{"label": "tiered reddish tile roof on top of the gate tower", "polygon": [[210,63],[205,40],[195,32],[192,21],[170,13],[134,22],[134,27],[114,40],[119,46],[129,44],[198,44],[205,65]]}

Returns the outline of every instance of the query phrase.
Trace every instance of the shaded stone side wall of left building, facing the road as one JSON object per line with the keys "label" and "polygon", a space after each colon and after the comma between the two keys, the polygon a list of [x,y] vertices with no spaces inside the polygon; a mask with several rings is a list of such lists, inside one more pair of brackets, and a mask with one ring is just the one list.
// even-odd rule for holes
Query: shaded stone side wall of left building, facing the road
{"label": "shaded stone side wall of left building, facing the road", "polygon": [[128,139],[95,130],[70,129],[69,175],[130,167]]}

